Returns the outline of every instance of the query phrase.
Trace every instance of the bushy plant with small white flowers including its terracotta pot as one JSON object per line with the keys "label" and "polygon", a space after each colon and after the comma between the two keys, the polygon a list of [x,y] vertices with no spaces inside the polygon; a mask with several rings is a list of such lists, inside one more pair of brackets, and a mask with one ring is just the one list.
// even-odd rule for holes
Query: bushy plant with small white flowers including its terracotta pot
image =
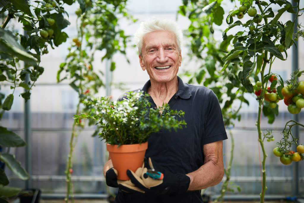
{"label": "bushy plant with small white flowers including its terracotta pot", "polygon": [[[183,111],[172,110],[168,104],[157,109],[150,108],[149,98],[150,95],[141,91],[129,92],[119,101],[112,101],[109,97],[88,98],[83,104],[89,113],[74,117],[77,123],[87,118],[97,124],[99,137],[107,143],[120,180],[129,179],[127,169],[135,171],[142,166],[147,141],[152,133],[161,129],[177,130],[186,125]],[[137,153],[140,157],[135,159]],[[122,154],[127,157],[122,157]],[[120,167],[123,169],[120,170]]]}

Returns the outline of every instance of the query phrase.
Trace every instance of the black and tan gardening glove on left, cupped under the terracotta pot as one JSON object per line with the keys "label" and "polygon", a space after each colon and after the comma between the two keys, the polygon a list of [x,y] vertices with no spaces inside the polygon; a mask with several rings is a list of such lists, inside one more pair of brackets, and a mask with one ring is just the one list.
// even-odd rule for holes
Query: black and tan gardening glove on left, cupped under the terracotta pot
{"label": "black and tan gardening glove on left, cupped under the terracotta pot", "polygon": [[[136,170],[136,174],[140,175],[142,168]],[[137,188],[131,180],[119,180],[117,179],[118,172],[114,168],[110,168],[105,173],[105,182],[110,187],[119,187],[122,191],[128,193],[144,193],[144,191]]]}

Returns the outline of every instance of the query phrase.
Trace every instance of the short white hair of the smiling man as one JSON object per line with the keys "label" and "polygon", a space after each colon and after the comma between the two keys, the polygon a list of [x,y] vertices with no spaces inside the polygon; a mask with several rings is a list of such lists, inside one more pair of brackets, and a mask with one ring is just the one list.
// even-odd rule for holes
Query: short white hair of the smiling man
{"label": "short white hair of the smiling man", "polygon": [[143,37],[145,36],[145,34],[160,30],[172,32],[176,37],[178,51],[181,51],[181,41],[183,38],[183,33],[178,27],[177,23],[170,19],[157,19],[153,17],[148,19],[147,21],[141,22],[139,28],[134,34],[140,56],[142,55],[141,49],[143,47]]}

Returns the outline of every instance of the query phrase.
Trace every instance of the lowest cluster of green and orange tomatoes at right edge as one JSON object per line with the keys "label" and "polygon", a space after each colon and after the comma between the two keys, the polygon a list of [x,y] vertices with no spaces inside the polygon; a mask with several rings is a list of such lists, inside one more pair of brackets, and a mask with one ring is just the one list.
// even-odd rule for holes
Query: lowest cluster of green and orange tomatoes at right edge
{"label": "lowest cluster of green and orange tomatoes at right edge", "polygon": [[297,152],[290,150],[288,153],[283,153],[283,150],[281,150],[279,147],[275,147],[275,149],[273,149],[273,153],[275,156],[280,157],[280,162],[282,164],[288,165],[291,164],[293,161],[298,162],[303,160],[304,145],[298,145]]}

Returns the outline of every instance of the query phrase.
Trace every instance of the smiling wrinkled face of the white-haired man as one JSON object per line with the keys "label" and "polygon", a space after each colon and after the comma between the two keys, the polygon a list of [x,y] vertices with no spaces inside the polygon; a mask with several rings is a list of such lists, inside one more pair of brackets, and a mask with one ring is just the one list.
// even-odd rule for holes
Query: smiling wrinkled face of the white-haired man
{"label": "smiling wrinkled face of the white-haired man", "polygon": [[175,35],[169,31],[153,31],[143,37],[140,66],[147,70],[151,82],[171,82],[181,66],[181,52]]}

